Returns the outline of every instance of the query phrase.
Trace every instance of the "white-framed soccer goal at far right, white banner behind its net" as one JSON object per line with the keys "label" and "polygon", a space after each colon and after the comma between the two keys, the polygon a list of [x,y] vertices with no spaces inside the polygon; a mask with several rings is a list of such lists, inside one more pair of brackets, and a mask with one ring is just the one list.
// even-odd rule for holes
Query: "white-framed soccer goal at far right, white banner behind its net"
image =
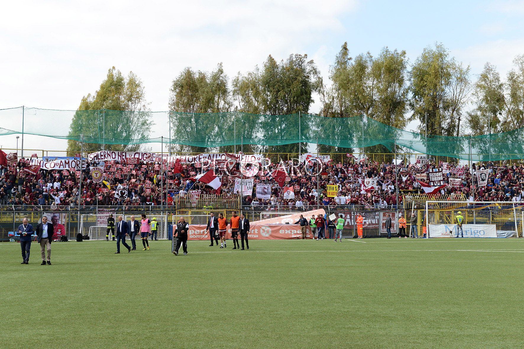
{"label": "white-framed soccer goal at far right, white banner behind its net", "polygon": [[426,201],[425,227],[427,237],[522,237],[524,202]]}

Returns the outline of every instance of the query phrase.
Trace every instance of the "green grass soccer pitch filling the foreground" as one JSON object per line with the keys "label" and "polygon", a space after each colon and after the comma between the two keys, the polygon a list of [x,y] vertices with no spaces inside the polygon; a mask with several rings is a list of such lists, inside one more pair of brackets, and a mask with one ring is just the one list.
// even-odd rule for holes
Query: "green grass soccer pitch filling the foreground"
{"label": "green grass soccer pitch filling the foreground", "polygon": [[521,348],[524,239],[1,243],[2,348]]}

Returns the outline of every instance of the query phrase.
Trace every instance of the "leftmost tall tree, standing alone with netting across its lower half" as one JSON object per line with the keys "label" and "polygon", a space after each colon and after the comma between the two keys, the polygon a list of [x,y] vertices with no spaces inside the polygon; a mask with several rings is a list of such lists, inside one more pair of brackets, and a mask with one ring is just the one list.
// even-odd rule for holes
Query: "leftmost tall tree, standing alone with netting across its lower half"
{"label": "leftmost tall tree, standing alone with netting across its lower half", "polygon": [[[135,151],[140,145],[121,145],[126,139],[148,138],[152,120],[149,103],[146,102],[144,85],[133,72],[127,77],[115,67],[107,72],[106,79],[94,95],[82,97],[80,106],[70,125],[68,154],[80,151],[80,136],[84,135],[84,150]],[[90,140],[105,138],[106,144],[89,143]],[[111,140],[115,139],[116,142]]]}

